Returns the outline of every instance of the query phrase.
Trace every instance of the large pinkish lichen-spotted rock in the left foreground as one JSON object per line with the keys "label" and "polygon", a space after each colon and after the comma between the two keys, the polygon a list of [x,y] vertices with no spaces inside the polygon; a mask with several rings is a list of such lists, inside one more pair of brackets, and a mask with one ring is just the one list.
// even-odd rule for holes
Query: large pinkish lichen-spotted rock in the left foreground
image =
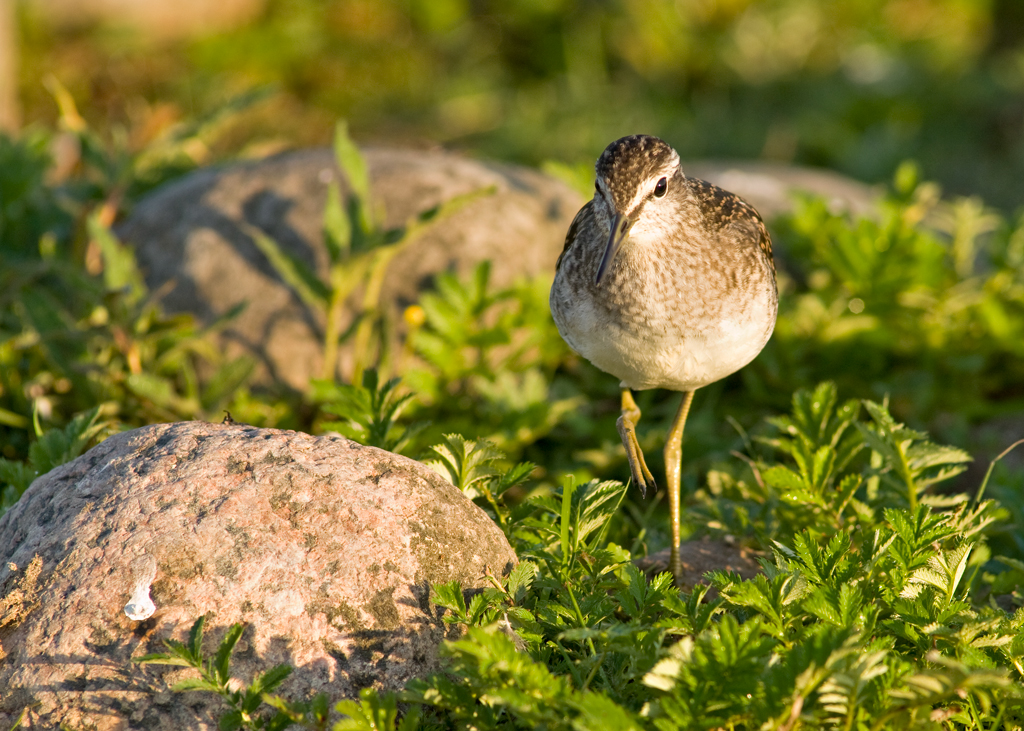
{"label": "large pinkish lichen-spotted rock in the left foreground", "polygon": [[[400,688],[438,666],[431,586],[480,587],[515,562],[419,463],[199,422],[113,436],[36,480],[0,518],[0,728],[29,706],[31,728],[96,729],[213,727],[219,700],[168,690],[193,671],[131,661],[204,614],[211,652],[248,622],[246,682],[287,662],[293,697]],[[152,616],[126,615],[151,599]]]}

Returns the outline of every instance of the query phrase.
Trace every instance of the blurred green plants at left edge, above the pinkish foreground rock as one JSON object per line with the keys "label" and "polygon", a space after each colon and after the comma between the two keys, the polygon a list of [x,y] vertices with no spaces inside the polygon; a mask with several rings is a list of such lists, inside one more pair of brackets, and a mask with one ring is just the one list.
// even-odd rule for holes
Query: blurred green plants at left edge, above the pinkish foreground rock
{"label": "blurred green plants at left edge, above the pinkish foreground rock", "polygon": [[110,228],[125,190],[156,168],[104,146],[67,91],[57,86],[56,95],[81,155],[78,177],[50,181],[45,136],[0,140],[10,163],[0,175],[0,444],[8,460],[28,459],[34,419],[60,427],[99,407],[140,426],[216,414],[234,405],[253,368],[249,358],[226,359],[210,340],[233,313],[201,329],[161,312],[134,253]]}

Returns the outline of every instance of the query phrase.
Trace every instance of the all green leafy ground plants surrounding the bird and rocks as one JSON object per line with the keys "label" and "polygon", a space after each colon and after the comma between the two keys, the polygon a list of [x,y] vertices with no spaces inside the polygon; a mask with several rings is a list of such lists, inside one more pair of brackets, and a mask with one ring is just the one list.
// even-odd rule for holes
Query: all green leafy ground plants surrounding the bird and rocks
{"label": "all green leafy ground plants surrounding the bird and rocks", "polygon": [[[470,11],[449,11],[450,20],[469,17],[475,28]],[[436,30],[445,12],[443,4],[419,8],[416,23]],[[562,33],[545,12],[552,33]],[[525,27],[517,26],[523,13],[508,10],[512,27]],[[622,483],[604,479],[623,475],[614,383],[562,344],[546,282],[498,289],[486,264],[467,278],[441,274],[407,308],[409,337],[389,351],[394,324],[380,288],[390,257],[486,190],[385,230],[365,162],[347,129],[336,129],[346,184],[330,186],[325,209],[329,276],[249,231],[327,322],[329,378],[314,386],[315,408],[292,410],[279,394],[245,390],[252,363],[225,361],[211,344],[224,321],[199,329],[163,314],[111,230],[133,191],[178,163],[195,164],[187,150],[208,137],[196,127],[165,139],[164,152],[129,149],[91,132],[60,87],[55,94],[80,150],[79,173],[50,179],[45,135],[0,140],[4,507],[106,430],[209,418],[224,406],[243,421],[271,423],[294,411],[300,427],[315,419],[318,429],[384,448],[416,454],[434,444],[434,468],[487,511],[519,556],[508,576],[488,573],[482,590],[433,587],[444,621],[464,626],[444,648],[444,671],[398,697],[368,690],[343,701],[336,728],[1024,723],[1019,467],[993,463],[971,498],[963,492],[974,486],[964,482],[972,479],[963,474],[968,451],[933,443],[925,431],[983,454],[973,426],[1022,410],[1024,220],[974,199],[942,202],[904,166],[870,216],[853,219],[807,199],[778,222],[775,338],[742,372],[741,390],[738,380],[702,390],[710,405],[697,403],[687,432],[686,530],[759,550],[762,573],[715,572],[711,586],[680,593],[668,574],[648,578],[633,563],[634,553],[665,540],[653,507],[641,509]],[[611,137],[599,124],[586,132],[601,144]],[[591,144],[586,135],[572,139]],[[571,166],[562,172],[581,177]],[[337,346],[346,338],[356,377],[338,385]],[[401,377],[407,390],[379,373]],[[865,398],[844,402],[840,392]],[[791,393],[790,413],[749,438],[744,425]],[[649,451],[672,410],[665,399],[641,399]],[[715,426],[723,414],[738,415],[738,438]],[[727,459],[740,441],[742,461]],[[523,457],[541,467],[520,464]],[[142,659],[194,669],[199,677],[179,687],[223,697],[223,728],[327,728],[326,697],[273,695],[287,669],[228,684],[242,632],[229,629],[206,657],[201,620],[187,643]],[[400,720],[399,697],[410,708]]]}

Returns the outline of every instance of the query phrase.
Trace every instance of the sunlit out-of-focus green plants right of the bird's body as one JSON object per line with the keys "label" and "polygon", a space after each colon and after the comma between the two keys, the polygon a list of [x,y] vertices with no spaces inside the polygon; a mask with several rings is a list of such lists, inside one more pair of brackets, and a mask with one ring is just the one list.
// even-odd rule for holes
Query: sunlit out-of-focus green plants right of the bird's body
{"label": "sunlit out-of-focus green plants right of the bird's body", "polygon": [[757,387],[890,394],[898,420],[954,415],[957,440],[1024,407],[1024,220],[976,203],[943,202],[911,166],[863,218],[798,202],[776,222],[785,275]]}

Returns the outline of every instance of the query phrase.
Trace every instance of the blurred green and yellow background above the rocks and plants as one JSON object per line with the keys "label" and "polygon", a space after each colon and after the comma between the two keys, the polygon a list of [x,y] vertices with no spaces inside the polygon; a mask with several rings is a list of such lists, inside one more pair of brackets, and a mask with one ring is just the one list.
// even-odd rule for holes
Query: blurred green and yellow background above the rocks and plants
{"label": "blurred green and yellow background above the rocks and plants", "polygon": [[345,118],[365,141],[535,165],[640,131],[684,160],[868,182],[913,159],[948,193],[1022,199],[1020,0],[6,2],[24,125],[57,119],[55,79],[141,147],[270,85],[196,163],[327,143]]}

